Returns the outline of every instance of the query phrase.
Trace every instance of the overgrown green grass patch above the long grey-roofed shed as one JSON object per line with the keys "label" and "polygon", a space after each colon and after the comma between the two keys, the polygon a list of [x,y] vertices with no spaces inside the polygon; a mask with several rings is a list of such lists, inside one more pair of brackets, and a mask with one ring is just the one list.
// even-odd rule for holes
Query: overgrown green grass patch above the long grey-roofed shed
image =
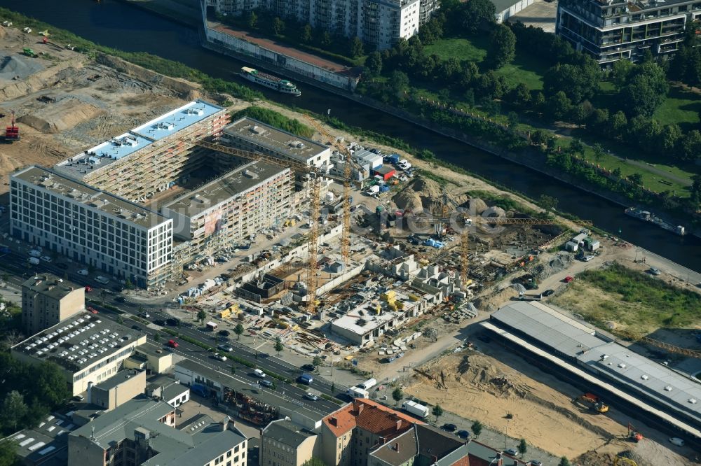
{"label": "overgrown green grass patch above the long grey-roofed shed", "polygon": [[701,295],[620,264],[584,271],[553,302],[580,313],[598,327],[606,328],[613,322],[617,329],[636,334],[649,334],[660,327],[693,327],[701,322]]}

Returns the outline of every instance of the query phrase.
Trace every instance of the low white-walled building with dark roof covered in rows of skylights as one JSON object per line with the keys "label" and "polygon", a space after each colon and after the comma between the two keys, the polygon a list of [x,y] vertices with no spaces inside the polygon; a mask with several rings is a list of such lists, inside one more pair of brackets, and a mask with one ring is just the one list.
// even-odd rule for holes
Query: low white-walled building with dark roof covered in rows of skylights
{"label": "low white-walled building with dark roof covered in rows of skylights", "polygon": [[31,364],[55,362],[72,386],[71,393],[79,395],[117,374],[123,360],[145,342],[146,334],[84,313],[16,344],[11,353]]}

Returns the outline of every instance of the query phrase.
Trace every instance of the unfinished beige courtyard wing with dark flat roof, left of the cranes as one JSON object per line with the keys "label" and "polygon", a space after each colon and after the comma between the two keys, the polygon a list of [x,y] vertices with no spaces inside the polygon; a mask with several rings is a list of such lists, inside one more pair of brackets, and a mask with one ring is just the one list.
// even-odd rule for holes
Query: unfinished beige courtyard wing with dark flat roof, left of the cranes
{"label": "unfinished beige courtyard wing with dark flat roof, left of the cranes", "polygon": [[191,248],[213,251],[290,216],[291,178],[290,169],[249,162],[164,204],[161,212]]}

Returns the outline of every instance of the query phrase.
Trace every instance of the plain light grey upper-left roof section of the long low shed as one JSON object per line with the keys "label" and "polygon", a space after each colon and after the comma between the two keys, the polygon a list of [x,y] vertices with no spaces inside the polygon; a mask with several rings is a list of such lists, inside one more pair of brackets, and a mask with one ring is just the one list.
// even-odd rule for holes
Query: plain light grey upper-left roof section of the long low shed
{"label": "plain light grey upper-left roof section of the long low shed", "polygon": [[594,336],[595,329],[539,302],[513,302],[492,313],[491,319],[571,357],[607,342]]}

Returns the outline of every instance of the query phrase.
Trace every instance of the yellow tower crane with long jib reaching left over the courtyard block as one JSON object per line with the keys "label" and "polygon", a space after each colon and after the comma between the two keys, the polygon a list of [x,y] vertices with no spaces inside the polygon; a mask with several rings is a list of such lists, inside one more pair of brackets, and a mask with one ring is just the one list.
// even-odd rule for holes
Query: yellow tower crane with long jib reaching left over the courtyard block
{"label": "yellow tower crane with long jib reaching left over the courtyard block", "polygon": [[311,199],[310,201],[310,213],[312,221],[309,224],[309,237],[308,237],[308,254],[307,254],[307,265],[306,265],[306,287],[307,287],[307,312],[315,313],[316,311],[316,289],[317,289],[317,277],[316,277],[316,253],[318,248],[318,237],[319,237],[319,217],[321,215],[321,179],[323,177],[332,178],[339,183],[343,183],[343,179],[331,176],[315,167],[314,165],[307,165],[300,162],[294,162],[291,160],[281,160],[270,155],[264,155],[260,153],[250,152],[249,150],[241,150],[232,148],[229,146],[223,146],[222,144],[207,142],[207,141],[197,141],[196,144],[203,148],[210,150],[217,150],[218,152],[234,155],[236,157],[242,157],[249,160],[262,160],[264,162],[269,162],[275,165],[280,165],[282,167],[287,167],[295,171],[302,171],[306,174],[313,175],[314,179],[311,183]]}

